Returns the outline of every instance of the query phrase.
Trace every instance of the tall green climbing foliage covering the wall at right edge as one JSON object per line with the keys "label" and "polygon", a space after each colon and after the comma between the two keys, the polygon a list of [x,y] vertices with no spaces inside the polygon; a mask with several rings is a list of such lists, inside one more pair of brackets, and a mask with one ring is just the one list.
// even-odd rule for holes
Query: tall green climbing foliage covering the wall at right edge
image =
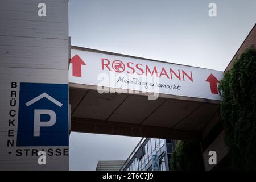
{"label": "tall green climbing foliage covering the wall at right edge", "polygon": [[225,73],[221,120],[233,169],[256,169],[256,51],[247,49]]}

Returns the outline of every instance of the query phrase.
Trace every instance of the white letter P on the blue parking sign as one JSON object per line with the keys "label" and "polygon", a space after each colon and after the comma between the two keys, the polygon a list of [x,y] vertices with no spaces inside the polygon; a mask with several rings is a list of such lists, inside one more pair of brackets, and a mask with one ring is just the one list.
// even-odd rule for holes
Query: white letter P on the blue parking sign
{"label": "white letter P on the blue parking sign", "polygon": [[[41,115],[49,115],[49,121],[41,121]],[[48,109],[34,110],[34,137],[40,137],[40,127],[53,126],[56,123],[56,113]]]}

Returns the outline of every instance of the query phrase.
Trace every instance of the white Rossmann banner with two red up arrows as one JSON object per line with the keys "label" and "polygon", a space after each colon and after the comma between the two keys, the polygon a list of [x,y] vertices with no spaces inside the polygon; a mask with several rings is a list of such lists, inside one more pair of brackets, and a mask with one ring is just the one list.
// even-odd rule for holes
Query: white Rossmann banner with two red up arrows
{"label": "white Rossmann banner with two red up arrows", "polygon": [[69,82],[97,86],[100,93],[114,88],[220,100],[221,71],[86,49],[71,49],[71,58]]}

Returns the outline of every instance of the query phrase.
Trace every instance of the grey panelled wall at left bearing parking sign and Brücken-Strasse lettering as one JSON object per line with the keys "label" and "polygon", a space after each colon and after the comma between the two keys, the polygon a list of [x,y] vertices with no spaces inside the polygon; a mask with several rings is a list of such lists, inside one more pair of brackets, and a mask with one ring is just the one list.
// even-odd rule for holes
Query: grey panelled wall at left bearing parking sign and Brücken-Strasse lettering
{"label": "grey panelled wall at left bearing parking sign and Br\u00fccken-Strasse lettering", "polygon": [[0,2],[0,170],[69,169],[68,0],[43,2]]}

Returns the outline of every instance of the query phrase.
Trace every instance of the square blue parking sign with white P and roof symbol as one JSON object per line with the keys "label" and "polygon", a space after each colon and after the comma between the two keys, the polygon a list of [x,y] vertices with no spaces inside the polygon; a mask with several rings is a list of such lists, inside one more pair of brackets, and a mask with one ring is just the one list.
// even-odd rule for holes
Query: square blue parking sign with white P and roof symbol
{"label": "square blue parking sign with white P and roof symbol", "polygon": [[20,83],[17,146],[68,146],[68,84]]}

